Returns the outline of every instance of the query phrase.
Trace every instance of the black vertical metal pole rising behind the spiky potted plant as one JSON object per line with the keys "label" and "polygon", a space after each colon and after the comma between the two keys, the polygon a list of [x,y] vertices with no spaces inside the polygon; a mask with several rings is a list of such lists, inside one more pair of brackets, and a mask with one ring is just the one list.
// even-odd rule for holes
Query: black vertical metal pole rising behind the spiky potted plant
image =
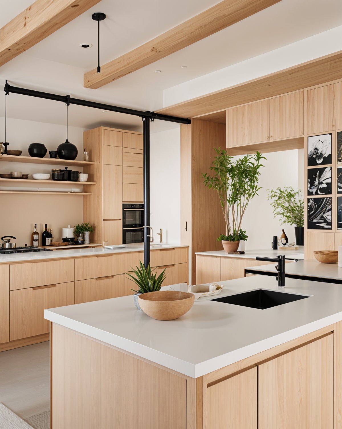
{"label": "black vertical metal pole rising behind the spiky potted plant", "polygon": [[144,124],[144,265],[150,263],[150,119],[142,118]]}

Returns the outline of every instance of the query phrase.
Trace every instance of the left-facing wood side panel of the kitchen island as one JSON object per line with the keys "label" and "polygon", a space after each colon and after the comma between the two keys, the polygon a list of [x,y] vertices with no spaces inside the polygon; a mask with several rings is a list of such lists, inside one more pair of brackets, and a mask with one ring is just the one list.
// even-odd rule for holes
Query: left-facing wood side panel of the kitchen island
{"label": "left-facing wood side panel of the kitchen island", "polygon": [[184,377],[55,324],[51,360],[53,429],[186,428]]}

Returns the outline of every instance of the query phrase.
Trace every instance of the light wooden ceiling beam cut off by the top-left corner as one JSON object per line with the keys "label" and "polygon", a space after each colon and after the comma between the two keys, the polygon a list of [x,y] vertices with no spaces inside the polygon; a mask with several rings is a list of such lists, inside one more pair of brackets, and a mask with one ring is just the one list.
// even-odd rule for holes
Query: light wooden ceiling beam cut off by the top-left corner
{"label": "light wooden ceiling beam cut off by the top-left corner", "polygon": [[99,2],[100,0],[36,0],[0,29],[0,66]]}

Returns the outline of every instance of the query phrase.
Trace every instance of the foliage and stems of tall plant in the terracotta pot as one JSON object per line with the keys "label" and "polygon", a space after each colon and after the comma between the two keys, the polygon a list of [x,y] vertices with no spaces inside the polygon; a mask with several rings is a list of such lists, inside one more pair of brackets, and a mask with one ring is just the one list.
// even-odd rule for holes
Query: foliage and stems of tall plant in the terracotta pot
{"label": "foliage and stems of tall plant in the terracotta pot", "polygon": [[235,160],[221,148],[214,150],[216,156],[210,167],[213,175],[202,173],[203,183],[218,193],[226,224],[225,236],[233,237],[230,241],[238,241],[238,237],[242,237],[242,217],[248,203],[260,190],[258,181],[260,168],[263,167],[261,160],[266,158],[257,152],[255,155],[245,155]]}

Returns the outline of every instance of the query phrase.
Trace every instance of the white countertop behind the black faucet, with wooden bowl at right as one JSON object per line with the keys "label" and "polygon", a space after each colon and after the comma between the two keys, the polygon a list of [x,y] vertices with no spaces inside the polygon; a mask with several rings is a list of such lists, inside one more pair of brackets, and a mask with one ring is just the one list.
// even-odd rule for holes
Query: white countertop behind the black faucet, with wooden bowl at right
{"label": "white countertop behind the black faucet, with wooden bowl at right", "polygon": [[[246,266],[245,268],[248,268]],[[258,272],[274,272],[276,273],[275,265],[260,265],[251,267]],[[336,264],[322,264],[315,259],[307,259],[298,262],[285,264],[285,275],[300,275],[305,277],[326,278],[342,281],[342,268]],[[285,280],[286,283],[287,279]]]}

